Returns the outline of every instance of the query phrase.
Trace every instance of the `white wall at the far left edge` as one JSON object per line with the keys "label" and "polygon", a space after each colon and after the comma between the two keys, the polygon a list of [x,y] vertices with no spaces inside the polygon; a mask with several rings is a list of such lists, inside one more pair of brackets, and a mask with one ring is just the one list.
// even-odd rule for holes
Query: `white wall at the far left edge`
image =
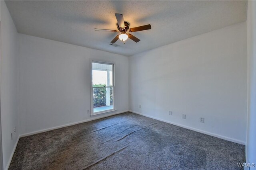
{"label": "white wall at the far left edge", "polygon": [[1,119],[3,167],[7,169],[15,144],[18,127],[18,33],[4,1],[1,1]]}

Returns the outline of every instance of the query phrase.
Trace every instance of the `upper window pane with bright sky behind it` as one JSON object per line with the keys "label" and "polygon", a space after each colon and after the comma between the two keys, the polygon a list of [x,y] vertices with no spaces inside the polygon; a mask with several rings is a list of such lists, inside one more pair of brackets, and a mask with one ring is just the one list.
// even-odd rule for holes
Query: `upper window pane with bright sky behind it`
{"label": "upper window pane with bright sky behind it", "polygon": [[92,85],[113,86],[113,64],[92,63]]}

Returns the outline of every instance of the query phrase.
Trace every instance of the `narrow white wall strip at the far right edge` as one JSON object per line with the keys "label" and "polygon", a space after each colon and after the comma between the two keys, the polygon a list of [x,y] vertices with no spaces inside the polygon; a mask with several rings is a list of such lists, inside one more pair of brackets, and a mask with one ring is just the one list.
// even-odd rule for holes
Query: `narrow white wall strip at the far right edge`
{"label": "narrow white wall strip at the far right edge", "polygon": [[256,1],[248,1],[246,22],[248,49],[246,163],[256,164]]}

